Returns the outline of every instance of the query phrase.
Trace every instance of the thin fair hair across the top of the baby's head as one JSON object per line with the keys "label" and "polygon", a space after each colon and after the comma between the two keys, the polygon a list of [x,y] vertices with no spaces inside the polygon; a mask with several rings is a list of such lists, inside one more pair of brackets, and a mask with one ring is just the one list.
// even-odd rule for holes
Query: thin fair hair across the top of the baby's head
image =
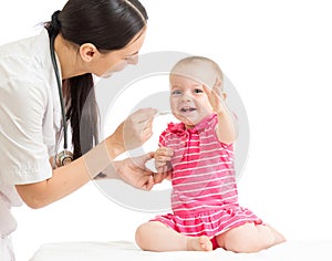
{"label": "thin fair hair across the top of the baby's head", "polygon": [[205,66],[206,69],[209,67],[215,74],[216,77],[220,81],[220,87],[224,88],[224,73],[220,66],[212,60],[205,58],[205,56],[187,56],[179,60],[170,70],[170,74],[176,72],[183,65],[197,65],[197,66]]}

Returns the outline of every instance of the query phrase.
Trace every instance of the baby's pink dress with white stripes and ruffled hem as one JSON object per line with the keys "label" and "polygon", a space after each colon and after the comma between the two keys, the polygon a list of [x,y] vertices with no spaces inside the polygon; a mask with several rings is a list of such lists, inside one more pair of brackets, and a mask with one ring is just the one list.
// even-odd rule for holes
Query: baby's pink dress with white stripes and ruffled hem
{"label": "baby's pink dress with white stripes and ruffled hem", "polygon": [[238,203],[234,146],[218,140],[216,125],[217,115],[212,114],[191,129],[170,123],[160,135],[159,146],[174,149],[173,213],[157,216],[154,221],[187,236],[210,239],[246,222],[262,223]]}

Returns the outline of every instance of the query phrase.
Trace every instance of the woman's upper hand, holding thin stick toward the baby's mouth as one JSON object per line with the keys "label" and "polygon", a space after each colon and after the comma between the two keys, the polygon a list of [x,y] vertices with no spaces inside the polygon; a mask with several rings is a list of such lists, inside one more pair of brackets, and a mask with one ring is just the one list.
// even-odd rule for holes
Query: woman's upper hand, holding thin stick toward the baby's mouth
{"label": "woman's upper hand, holding thin stick toward the baby's mouth", "polygon": [[148,138],[151,138],[152,123],[157,109],[141,108],[129,115],[111,136],[110,145],[120,147],[123,152],[142,146]]}

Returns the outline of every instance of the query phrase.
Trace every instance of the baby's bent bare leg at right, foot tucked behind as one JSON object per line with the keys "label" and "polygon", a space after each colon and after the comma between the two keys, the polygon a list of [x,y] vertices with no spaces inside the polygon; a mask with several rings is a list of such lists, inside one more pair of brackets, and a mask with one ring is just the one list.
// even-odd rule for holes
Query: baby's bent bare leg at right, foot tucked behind
{"label": "baby's bent bare leg at right, foot tucked behind", "polygon": [[268,225],[245,223],[216,237],[220,248],[234,252],[257,252],[284,241],[282,234]]}

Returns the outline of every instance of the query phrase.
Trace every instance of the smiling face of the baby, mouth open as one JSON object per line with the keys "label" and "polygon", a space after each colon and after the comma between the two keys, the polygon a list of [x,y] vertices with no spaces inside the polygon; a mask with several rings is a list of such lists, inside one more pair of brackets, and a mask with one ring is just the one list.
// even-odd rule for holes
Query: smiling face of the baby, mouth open
{"label": "smiling face of the baby, mouth open", "polygon": [[187,128],[198,124],[212,113],[203,83],[177,74],[172,74],[169,81],[172,113]]}

